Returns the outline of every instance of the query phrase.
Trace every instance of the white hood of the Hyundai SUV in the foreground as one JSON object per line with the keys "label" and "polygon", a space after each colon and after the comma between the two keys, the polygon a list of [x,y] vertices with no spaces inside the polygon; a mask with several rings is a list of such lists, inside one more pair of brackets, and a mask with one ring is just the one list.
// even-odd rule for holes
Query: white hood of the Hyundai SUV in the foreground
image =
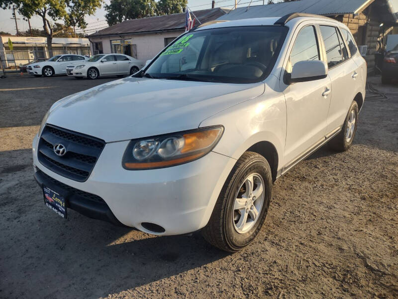
{"label": "white hood of the Hyundai SUV in the foreground", "polygon": [[47,123],[115,142],[195,129],[205,118],[263,93],[263,82],[127,77],[59,100]]}

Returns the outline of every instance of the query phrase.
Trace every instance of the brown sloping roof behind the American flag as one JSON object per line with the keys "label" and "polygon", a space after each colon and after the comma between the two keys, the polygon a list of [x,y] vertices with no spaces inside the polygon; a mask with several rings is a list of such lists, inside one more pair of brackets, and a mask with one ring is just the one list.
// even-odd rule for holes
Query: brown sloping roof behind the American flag
{"label": "brown sloping roof behind the American flag", "polygon": [[[200,23],[212,21],[227,13],[230,9],[210,8],[194,11]],[[194,18],[194,15],[192,15]],[[198,25],[198,22],[196,22]],[[170,30],[183,30],[185,28],[185,12],[168,15],[145,17],[141,19],[126,20],[108,28],[95,32],[89,37],[118,35],[127,33],[146,33]]]}

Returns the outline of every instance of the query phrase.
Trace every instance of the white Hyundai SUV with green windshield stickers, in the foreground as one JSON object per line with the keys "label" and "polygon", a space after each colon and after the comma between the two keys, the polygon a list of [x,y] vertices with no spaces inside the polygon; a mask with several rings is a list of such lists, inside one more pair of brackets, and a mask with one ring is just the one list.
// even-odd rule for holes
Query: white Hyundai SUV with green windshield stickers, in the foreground
{"label": "white Hyundai SUV with green windshield stickers, in the foreground", "polygon": [[348,28],[304,14],[210,24],[142,71],[68,96],[33,140],[46,205],[155,235],[248,245],[273,181],[329,142],[347,150],[366,64]]}

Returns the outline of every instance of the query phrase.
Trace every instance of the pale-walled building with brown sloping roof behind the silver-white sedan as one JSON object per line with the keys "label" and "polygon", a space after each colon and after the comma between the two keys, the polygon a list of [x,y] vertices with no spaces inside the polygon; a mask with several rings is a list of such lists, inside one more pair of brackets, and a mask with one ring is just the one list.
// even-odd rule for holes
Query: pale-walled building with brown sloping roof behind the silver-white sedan
{"label": "pale-walled building with brown sloping roof behind the silver-white sedan", "polygon": [[[215,20],[229,9],[194,11],[200,23]],[[192,18],[194,15],[191,13]],[[196,21],[195,25],[199,25]],[[185,31],[185,13],[153,16],[123,21],[89,36],[94,54],[120,53],[137,59],[152,59],[166,45]]]}

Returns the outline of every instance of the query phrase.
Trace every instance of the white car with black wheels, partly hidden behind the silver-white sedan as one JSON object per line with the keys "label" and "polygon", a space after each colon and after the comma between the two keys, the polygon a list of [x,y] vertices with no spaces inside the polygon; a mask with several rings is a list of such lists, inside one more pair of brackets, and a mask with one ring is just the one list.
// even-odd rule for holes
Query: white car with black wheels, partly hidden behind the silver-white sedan
{"label": "white car with black wheels, partly hidden behind the silver-white sedan", "polygon": [[31,63],[27,66],[26,69],[28,74],[35,77],[52,77],[54,75],[65,75],[66,66],[70,64],[71,61],[85,61],[87,59],[88,58],[83,55],[55,55],[46,61]]}

